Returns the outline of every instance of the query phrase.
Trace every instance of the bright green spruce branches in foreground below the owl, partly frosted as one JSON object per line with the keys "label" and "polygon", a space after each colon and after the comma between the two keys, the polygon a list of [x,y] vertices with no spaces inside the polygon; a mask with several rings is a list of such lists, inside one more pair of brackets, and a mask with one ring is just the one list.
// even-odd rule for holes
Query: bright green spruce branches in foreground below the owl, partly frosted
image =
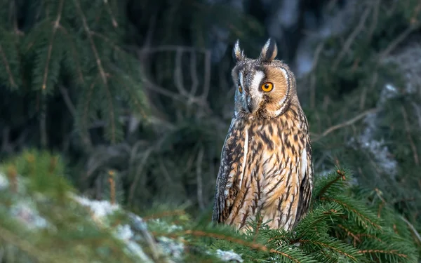
{"label": "bright green spruce branches in foreground below the owl, partly frosted", "polygon": [[293,231],[257,220],[245,234],[184,210],[161,207],[141,218],[112,196],[100,205],[76,196],[65,170],[60,156],[37,151],[1,163],[1,260],[222,262],[232,251],[240,262],[417,262],[408,224],[377,191],[352,187],[346,170],[315,182],[312,208]]}

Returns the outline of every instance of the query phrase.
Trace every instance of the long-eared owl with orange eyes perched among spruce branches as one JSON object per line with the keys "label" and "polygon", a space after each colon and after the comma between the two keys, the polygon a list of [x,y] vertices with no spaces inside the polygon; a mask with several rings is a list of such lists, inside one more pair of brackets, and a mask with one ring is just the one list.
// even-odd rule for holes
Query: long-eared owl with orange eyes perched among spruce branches
{"label": "long-eared owl with orange eyes perched among spruce branches", "polygon": [[[313,188],[307,118],[288,65],[268,39],[257,59],[237,40],[234,116],[222,147],[213,222],[245,231],[251,220],[290,231],[307,213]],[[259,218],[257,216],[259,215]]]}

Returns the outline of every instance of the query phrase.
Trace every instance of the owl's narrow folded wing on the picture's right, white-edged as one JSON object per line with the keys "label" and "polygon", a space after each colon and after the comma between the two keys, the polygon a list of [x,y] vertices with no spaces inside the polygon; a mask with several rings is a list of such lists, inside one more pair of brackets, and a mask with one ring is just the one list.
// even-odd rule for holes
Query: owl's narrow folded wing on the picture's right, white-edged
{"label": "owl's narrow folded wing on the picture's right, white-edged", "polygon": [[301,184],[300,184],[300,198],[298,201],[297,216],[295,217],[295,224],[307,213],[310,201],[312,199],[313,189],[313,163],[312,163],[312,146],[308,140],[305,146],[305,151],[301,156]]}

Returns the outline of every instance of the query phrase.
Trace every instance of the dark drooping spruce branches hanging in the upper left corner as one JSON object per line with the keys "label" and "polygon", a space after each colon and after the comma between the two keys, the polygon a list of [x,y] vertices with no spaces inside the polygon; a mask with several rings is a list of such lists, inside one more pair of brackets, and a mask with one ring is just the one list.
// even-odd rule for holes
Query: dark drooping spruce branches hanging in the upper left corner
{"label": "dark drooping spruce branches hanging in the upper left corner", "polygon": [[37,139],[43,147],[54,137],[46,116],[59,97],[67,105],[62,114],[74,117],[71,123],[84,149],[92,147],[93,121],[104,123],[107,140],[121,141],[125,112],[139,118],[147,112],[138,61],[123,46],[122,3],[12,2],[1,2],[0,79],[10,90],[2,91],[2,100],[15,93],[22,96],[24,114],[39,118]]}

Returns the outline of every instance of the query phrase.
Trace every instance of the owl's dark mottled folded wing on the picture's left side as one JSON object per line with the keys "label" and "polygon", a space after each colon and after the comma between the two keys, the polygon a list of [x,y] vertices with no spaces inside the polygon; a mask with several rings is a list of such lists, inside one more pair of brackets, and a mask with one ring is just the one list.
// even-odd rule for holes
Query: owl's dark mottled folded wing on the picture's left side
{"label": "owl's dark mottled folded wing on the picture's left side", "polygon": [[213,222],[225,222],[232,210],[232,204],[238,193],[236,175],[243,173],[241,159],[244,154],[244,142],[241,121],[233,118],[221,153],[221,163],[216,179],[215,203],[213,205]]}

